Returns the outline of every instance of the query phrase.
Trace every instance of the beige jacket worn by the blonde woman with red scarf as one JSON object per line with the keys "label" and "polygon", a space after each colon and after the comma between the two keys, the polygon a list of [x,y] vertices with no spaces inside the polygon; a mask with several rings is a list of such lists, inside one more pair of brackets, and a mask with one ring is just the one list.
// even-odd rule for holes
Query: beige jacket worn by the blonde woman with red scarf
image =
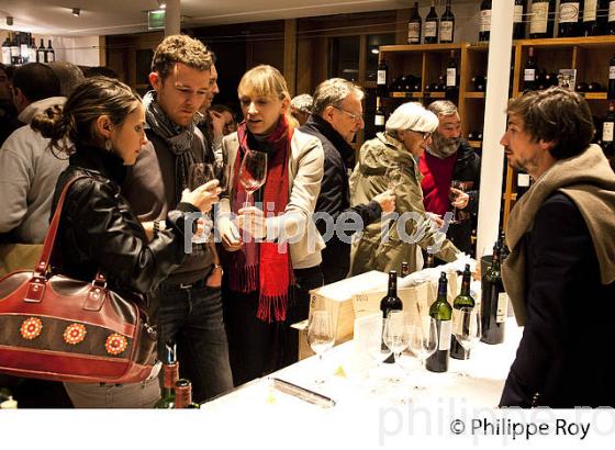
{"label": "beige jacket worn by the blonde woman with red scarf", "polygon": [[[222,140],[224,170],[230,187],[233,187],[233,167],[238,148],[237,133],[225,136]],[[321,250],[325,244],[312,221],[312,214],[321,192],[323,167],[324,151],[321,142],[295,130],[289,158],[289,203],[282,215],[267,220],[268,235],[272,234],[277,243],[289,243],[294,269],[306,269],[322,261]],[[232,196],[232,190],[222,196],[219,220],[228,217]]]}

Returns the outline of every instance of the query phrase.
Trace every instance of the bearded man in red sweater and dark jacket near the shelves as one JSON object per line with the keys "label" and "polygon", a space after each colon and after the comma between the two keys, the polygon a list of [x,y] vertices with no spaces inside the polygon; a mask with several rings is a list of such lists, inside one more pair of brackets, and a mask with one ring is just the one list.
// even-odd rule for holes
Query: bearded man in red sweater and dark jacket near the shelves
{"label": "bearded man in red sweater and dark jacket near the shelves", "polygon": [[[418,164],[424,177],[421,187],[425,211],[444,216],[446,212],[457,209],[457,222],[450,223],[447,237],[461,251],[471,254],[472,225],[478,210],[480,157],[461,137],[461,121],[452,102],[437,100],[427,109],[438,116],[439,124],[432,135],[433,144]],[[461,190],[450,187],[454,180],[461,182]]]}

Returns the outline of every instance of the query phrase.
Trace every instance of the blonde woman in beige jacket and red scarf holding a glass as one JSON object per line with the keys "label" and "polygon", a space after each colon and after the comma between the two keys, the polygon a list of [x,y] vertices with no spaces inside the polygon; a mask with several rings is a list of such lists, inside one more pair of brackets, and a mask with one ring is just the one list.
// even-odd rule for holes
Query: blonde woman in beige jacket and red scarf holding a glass
{"label": "blonde woman in beige jacket and red scarf holding a glass", "polygon": [[[297,361],[297,331],[290,325],[308,318],[309,291],[323,283],[324,247],[312,222],[323,177],[321,142],[289,125],[290,95],[276,68],[248,70],[238,95],[244,122],[223,140],[228,192],[217,218],[228,252],[226,306],[236,385]],[[253,151],[267,155],[267,177],[248,195],[239,169]]]}

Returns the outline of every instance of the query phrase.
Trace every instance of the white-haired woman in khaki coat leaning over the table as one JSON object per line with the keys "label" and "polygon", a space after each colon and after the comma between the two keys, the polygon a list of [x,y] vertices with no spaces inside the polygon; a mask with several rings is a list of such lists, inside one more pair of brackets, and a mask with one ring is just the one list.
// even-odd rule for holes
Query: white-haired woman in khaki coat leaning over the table
{"label": "white-haired woman in khaki coat leaning over the table", "polygon": [[[377,222],[367,226],[360,239],[353,243],[350,274],[369,270],[400,270],[402,261],[411,272],[421,270],[417,246],[435,252],[444,261],[454,261],[459,250],[436,229],[425,214],[418,158],[432,143],[438,117],[421,103],[400,105],[387,121],[385,132],[366,142],[350,177],[351,204],[366,203],[394,183],[395,213],[393,223]],[[414,213],[414,214],[404,214]],[[382,229],[382,227],[388,229]]]}

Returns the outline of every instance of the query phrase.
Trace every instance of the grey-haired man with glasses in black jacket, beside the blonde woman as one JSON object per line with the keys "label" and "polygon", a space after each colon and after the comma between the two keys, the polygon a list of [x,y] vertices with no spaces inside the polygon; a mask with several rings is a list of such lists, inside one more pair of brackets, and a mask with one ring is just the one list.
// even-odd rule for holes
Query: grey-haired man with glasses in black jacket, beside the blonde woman
{"label": "grey-haired man with glasses in black jacket, beside the blonde woman", "polygon": [[[324,176],[315,213],[326,213],[328,224],[338,222],[350,213],[362,221],[362,226],[377,221],[382,213],[395,209],[395,196],[385,191],[368,203],[350,207],[348,171],[355,166],[355,149],[350,146],[355,135],[365,126],[359,87],[343,78],[323,81],[314,92],[312,115],[299,130],[314,135],[323,143],[325,153]],[[339,221],[342,222],[342,221]],[[327,222],[316,221],[318,232],[325,236]],[[325,284],[339,281],[350,269],[351,232],[342,237],[334,233],[322,251]]]}

